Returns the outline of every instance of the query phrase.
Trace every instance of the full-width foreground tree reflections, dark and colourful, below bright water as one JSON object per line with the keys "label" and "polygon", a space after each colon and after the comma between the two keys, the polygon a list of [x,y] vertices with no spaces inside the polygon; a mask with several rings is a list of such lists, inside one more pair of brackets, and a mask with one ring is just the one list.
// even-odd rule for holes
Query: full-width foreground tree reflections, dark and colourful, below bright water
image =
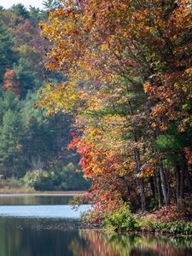
{"label": "full-width foreground tree reflections, dark and colourful, below bright water", "polygon": [[118,236],[76,219],[0,218],[1,256],[189,256],[192,238]]}

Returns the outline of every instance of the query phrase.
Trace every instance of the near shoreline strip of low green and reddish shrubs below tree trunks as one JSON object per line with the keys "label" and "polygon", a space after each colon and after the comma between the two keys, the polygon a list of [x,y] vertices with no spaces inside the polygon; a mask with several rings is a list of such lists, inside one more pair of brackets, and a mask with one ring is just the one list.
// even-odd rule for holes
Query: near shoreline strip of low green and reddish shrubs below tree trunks
{"label": "near shoreline strip of low green and reddish shrubs below tree trunks", "polygon": [[103,224],[107,230],[113,230],[118,234],[151,233],[153,235],[192,236],[192,218],[186,213],[187,209],[185,212],[179,212],[178,206],[175,205],[161,207],[154,212],[134,214],[129,206],[124,205],[113,213],[106,214]]}

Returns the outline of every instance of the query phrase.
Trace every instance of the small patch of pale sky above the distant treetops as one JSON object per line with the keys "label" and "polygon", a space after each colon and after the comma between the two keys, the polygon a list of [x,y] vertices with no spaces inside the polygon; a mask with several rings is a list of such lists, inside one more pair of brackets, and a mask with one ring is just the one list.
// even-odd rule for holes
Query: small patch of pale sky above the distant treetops
{"label": "small patch of pale sky above the distant treetops", "polygon": [[29,5],[32,5],[33,7],[39,7],[40,9],[43,9],[43,5],[41,4],[43,1],[41,0],[0,0],[0,6],[3,6],[3,8],[8,9],[13,4],[22,3],[27,8]]}

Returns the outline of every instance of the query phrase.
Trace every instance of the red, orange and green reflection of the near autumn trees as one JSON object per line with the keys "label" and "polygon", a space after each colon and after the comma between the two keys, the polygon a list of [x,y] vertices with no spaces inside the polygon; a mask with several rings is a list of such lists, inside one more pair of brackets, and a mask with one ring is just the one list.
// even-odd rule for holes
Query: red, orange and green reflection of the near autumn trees
{"label": "red, orange and green reflection of the near autumn trees", "polygon": [[191,256],[191,237],[108,235],[101,231],[79,231],[69,245],[73,256]]}

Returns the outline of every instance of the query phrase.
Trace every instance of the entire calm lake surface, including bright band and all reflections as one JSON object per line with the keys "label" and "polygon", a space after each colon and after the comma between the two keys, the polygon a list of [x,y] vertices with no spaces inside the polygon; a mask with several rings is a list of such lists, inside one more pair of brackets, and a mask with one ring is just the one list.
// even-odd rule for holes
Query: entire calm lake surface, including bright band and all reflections
{"label": "entire calm lake surface, including bright band and all reflections", "polygon": [[86,229],[68,196],[0,196],[0,256],[192,256],[192,238]]}

